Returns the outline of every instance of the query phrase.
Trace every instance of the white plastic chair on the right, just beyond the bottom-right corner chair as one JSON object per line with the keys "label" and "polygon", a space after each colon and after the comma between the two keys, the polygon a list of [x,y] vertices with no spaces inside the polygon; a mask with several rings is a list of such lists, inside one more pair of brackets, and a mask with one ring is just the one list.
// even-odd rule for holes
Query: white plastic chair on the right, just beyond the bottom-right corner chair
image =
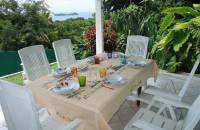
{"label": "white plastic chair on the right, just beyond the bottom-right corner chair", "polygon": [[[152,100],[153,96],[159,96],[159,97],[163,97],[163,98],[167,98],[167,99],[171,99],[171,100],[174,100],[174,101],[181,102],[182,99],[183,99],[183,96],[185,95],[187,89],[190,86],[190,83],[192,81],[192,77],[194,76],[194,73],[195,73],[196,69],[198,68],[199,62],[200,62],[200,55],[198,56],[194,66],[192,68],[192,71],[190,72],[189,76],[185,80],[183,87],[181,87],[181,90],[179,91],[179,93],[170,93],[169,91],[164,91],[163,89],[160,89],[158,87],[149,87],[149,88],[144,89],[143,94],[140,95],[140,96],[137,96],[136,93],[132,93],[131,96],[127,97],[127,100],[129,100],[129,101],[139,100],[139,101],[145,102],[147,104],[150,104],[150,106],[154,105],[154,106],[157,106],[157,107],[163,107],[163,106],[153,104],[154,103],[153,100]],[[161,103],[165,103],[164,101],[165,100],[162,100]],[[177,117],[175,115],[175,112],[174,112],[172,106],[170,106],[168,104],[165,104],[165,105],[166,105],[166,107],[168,107],[170,114],[172,116],[172,119],[177,120]]]}

